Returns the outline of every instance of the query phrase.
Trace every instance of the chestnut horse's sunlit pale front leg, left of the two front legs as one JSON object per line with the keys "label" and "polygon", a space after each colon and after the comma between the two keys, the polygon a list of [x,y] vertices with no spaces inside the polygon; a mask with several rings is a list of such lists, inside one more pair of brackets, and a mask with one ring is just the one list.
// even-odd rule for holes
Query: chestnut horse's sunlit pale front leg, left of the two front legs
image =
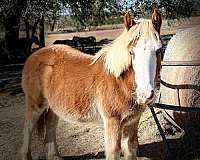
{"label": "chestnut horse's sunlit pale front leg, left of the two front legs", "polygon": [[121,153],[120,119],[105,118],[104,125],[106,160],[119,160]]}

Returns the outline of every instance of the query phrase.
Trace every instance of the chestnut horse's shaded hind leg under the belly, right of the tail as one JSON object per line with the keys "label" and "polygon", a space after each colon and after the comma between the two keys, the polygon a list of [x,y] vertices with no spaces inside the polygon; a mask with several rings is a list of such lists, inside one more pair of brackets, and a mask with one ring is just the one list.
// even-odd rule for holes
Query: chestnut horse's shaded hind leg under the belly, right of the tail
{"label": "chestnut horse's shaded hind leg under the belly, right of the tail", "polygon": [[59,156],[56,145],[57,124],[58,124],[57,115],[51,109],[49,109],[48,114],[46,115],[46,136],[45,136],[48,160],[62,159]]}

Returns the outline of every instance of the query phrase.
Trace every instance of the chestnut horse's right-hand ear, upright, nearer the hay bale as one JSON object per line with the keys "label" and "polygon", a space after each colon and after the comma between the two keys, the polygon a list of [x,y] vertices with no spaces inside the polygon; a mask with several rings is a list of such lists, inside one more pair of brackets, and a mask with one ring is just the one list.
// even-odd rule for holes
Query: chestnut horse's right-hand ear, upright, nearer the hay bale
{"label": "chestnut horse's right-hand ear, upright, nearer the hay bale", "polygon": [[162,25],[162,16],[159,9],[157,8],[154,9],[151,19],[155,30],[160,34],[160,27]]}

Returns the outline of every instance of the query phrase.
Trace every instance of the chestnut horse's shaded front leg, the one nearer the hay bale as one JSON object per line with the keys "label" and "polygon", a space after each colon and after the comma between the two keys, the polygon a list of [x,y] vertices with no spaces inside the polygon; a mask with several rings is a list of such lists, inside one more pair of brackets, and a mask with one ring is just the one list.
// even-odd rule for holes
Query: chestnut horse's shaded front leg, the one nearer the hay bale
{"label": "chestnut horse's shaded front leg, the one nearer the hay bale", "polygon": [[135,119],[133,123],[124,126],[122,130],[122,151],[124,160],[137,160],[138,149],[138,124],[140,117]]}

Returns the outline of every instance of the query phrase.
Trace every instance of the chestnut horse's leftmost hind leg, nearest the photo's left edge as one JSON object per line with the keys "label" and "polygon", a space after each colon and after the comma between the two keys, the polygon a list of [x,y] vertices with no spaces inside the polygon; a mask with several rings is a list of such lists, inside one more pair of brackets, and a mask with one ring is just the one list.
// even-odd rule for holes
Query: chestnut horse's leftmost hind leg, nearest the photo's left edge
{"label": "chestnut horse's leftmost hind leg, nearest the photo's left edge", "polygon": [[33,128],[35,127],[40,115],[45,108],[41,108],[30,97],[26,97],[26,115],[24,123],[24,138],[21,148],[22,160],[31,160],[31,136]]}

